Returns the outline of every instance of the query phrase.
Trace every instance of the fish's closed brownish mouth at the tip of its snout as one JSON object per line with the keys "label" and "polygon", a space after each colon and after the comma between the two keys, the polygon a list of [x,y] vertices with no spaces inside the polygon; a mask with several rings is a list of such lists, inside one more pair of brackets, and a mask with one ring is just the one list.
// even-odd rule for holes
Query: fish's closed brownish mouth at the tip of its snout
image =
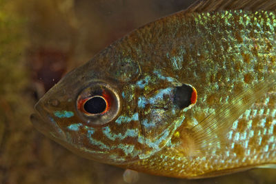
{"label": "fish's closed brownish mouth at the tip of its snout", "polygon": [[43,109],[40,101],[34,108],[37,112],[30,115],[30,121],[32,121],[34,127],[50,139],[54,139],[55,141],[66,141],[66,134],[61,130],[50,114]]}

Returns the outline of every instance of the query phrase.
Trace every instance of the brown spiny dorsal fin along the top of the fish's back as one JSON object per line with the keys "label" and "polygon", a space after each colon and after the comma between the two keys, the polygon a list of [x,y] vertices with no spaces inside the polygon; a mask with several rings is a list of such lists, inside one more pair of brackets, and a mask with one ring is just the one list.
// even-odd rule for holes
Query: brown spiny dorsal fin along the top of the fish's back
{"label": "brown spiny dorsal fin along the top of the fish's back", "polygon": [[186,12],[212,12],[221,10],[276,10],[275,0],[199,0]]}

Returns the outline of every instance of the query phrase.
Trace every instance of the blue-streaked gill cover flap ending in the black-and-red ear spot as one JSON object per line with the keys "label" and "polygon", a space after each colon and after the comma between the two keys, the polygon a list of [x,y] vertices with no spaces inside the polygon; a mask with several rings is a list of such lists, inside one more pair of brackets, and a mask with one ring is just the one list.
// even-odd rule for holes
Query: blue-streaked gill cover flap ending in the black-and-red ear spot
{"label": "blue-streaked gill cover flap ending in the black-and-red ear spot", "polygon": [[185,112],[196,102],[197,94],[191,85],[168,85],[146,98],[139,96],[139,121],[146,143],[163,147],[185,119]]}

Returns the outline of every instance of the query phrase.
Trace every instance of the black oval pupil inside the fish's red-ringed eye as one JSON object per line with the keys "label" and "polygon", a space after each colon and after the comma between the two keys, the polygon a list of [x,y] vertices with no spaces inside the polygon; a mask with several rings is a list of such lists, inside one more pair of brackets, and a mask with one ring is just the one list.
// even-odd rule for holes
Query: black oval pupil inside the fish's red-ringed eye
{"label": "black oval pupil inside the fish's red-ringed eye", "polygon": [[95,96],[83,105],[84,110],[90,114],[99,114],[106,110],[106,101],[100,96]]}

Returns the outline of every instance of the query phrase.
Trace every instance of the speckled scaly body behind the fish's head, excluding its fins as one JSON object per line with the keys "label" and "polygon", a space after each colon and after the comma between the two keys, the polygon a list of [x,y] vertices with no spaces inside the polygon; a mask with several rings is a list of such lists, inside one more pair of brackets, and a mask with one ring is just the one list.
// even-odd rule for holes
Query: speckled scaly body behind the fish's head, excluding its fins
{"label": "speckled scaly body behind the fish's head, excluding its fins", "polygon": [[[181,129],[193,127],[216,112],[244,88],[268,79],[275,72],[274,12],[232,10],[185,15],[181,12],[152,24],[130,34],[126,41],[137,41],[143,46],[139,61],[142,71],[161,68],[165,75],[197,89],[197,104],[186,112],[184,123],[177,129],[179,134]],[[124,44],[123,48],[130,48]],[[149,53],[150,50],[158,53]],[[275,92],[272,88],[239,116],[227,132],[228,144],[222,151],[187,156],[181,151],[183,147],[168,143],[155,155],[128,167],[152,174],[193,177],[275,163]],[[181,142],[180,138],[178,141]]]}

